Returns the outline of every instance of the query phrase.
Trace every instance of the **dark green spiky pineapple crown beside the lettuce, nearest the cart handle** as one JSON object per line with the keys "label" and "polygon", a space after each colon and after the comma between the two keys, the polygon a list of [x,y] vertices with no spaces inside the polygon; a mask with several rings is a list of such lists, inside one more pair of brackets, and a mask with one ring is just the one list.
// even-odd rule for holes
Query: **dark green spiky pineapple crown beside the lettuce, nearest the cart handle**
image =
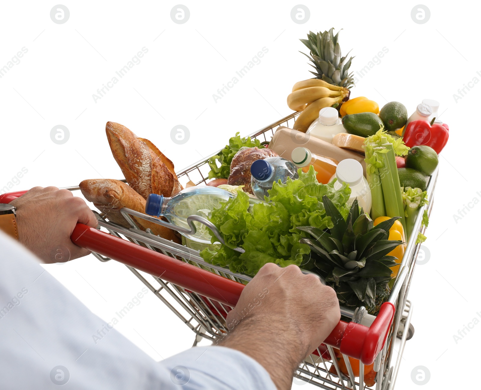
{"label": "dark green spiky pineapple crown beside the lettuce, nearest the cart handle", "polygon": [[344,306],[365,306],[368,313],[375,314],[389,296],[390,267],[397,264],[396,258],[387,254],[402,243],[388,240],[389,229],[399,217],[374,227],[363,209],[359,211],[357,200],[346,220],[327,196],[322,202],[334,226],[329,231],[298,227],[313,237],[301,239],[311,247],[316,265],[312,271],[326,279]]}

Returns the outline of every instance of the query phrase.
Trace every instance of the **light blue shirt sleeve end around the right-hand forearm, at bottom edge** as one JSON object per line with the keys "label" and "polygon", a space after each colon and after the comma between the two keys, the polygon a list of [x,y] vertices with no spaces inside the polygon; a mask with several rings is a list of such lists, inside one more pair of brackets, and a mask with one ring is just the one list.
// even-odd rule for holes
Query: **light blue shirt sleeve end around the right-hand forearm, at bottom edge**
{"label": "light blue shirt sleeve end around the right-hand forearm, at bottom edge", "polygon": [[184,390],[277,390],[266,369],[227,347],[194,347],[161,362]]}

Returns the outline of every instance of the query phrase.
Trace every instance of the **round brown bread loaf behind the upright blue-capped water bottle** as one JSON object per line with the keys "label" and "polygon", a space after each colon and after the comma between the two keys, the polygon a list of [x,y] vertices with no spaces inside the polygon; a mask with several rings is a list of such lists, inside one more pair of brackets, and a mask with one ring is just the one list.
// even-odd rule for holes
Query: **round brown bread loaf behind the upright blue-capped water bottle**
{"label": "round brown bread loaf behind the upright blue-capped water bottle", "polygon": [[242,190],[254,194],[251,187],[251,165],[255,160],[264,160],[278,154],[270,149],[244,148],[236,153],[230,163],[230,174],[227,183],[230,185],[243,185]]}

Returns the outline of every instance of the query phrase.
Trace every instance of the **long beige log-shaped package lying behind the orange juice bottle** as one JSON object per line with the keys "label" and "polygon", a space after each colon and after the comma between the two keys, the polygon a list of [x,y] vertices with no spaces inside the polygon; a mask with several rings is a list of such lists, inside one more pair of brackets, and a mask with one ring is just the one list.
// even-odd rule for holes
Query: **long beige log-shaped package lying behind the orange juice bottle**
{"label": "long beige log-shaped package lying behind the orange juice bottle", "polygon": [[301,131],[289,129],[288,127],[280,126],[274,133],[268,147],[279,156],[291,160],[291,153],[298,146],[303,146],[316,155],[330,157],[337,161],[354,158],[354,160],[361,163],[364,175],[366,176],[364,156],[348,149],[342,149],[316,137],[311,137],[309,134]]}

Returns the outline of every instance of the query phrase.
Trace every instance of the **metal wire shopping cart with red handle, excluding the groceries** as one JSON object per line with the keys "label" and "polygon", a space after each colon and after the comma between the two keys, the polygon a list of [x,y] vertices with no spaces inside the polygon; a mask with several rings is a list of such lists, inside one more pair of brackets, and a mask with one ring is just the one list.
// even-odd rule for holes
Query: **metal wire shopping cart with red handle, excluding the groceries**
{"label": "metal wire shopping cart with red handle, excluding the groceries", "polygon": [[[298,114],[292,113],[251,137],[267,143],[279,126],[289,127],[290,121]],[[208,159],[205,159],[180,171],[177,176],[182,184],[202,184],[206,183],[209,170]],[[421,223],[422,211],[424,208],[428,209],[428,213],[431,211],[437,175],[436,170],[430,178],[427,189],[430,202],[419,212],[414,232],[423,233],[425,230]],[[77,186],[67,188],[79,190]],[[0,195],[0,203],[9,203],[23,193],[25,191]],[[98,211],[92,211],[97,216],[99,227],[94,229],[78,223],[71,236],[74,243],[91,250],[100,261],[113,259],[124,263],[195,333],[194,346],[203,338],[215,342],[227,334],[227,313],[236,305],[251,276],[208,264],[199,256],[199,251],[167,241],[152,234],[149,229],[146,232],[140,230],[131,216],[155,223],[167,222],[159,222],[124,208],[122,215],[131,226],[126,228],[108,221]],[[416,237],[416,234],[413,236]],[[418,252],[419,244],[411,239],[389,299],[381,305],[377,316],[367,314],[364,307],[355,311],[341,308],[341,321],[324,343],[299,366],[297,379],[322,389],[394,388],[405,342],[414,333],[411,325],[413,306],[407,300],[407,294]],[[345,374],[342,371],[346,369],[342,370],[336,359],[341,356],[347,369]],[[360,360],[358,370],[350,363],[349,357]],[[370,364],[377,373],[375,387],[366,387],[363,381],[365,365]],[[358,375],[355,375],[357,371]]]}

